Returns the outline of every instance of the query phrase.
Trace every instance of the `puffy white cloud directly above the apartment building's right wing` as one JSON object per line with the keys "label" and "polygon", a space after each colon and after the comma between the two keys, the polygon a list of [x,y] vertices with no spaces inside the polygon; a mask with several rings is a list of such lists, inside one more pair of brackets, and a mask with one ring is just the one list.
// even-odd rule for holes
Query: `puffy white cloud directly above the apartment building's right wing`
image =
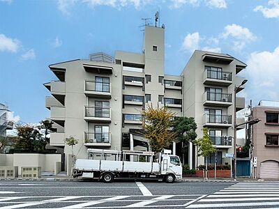
{"label": "puffy white cloud directly above the apartment building's right wing", "polygon": [[232,39],[234,50],[239,51],[246,46],[246,42],[256,40],[256,36],[248,29],[237,24],[225,26],[224,32],[220,35],[224,39]]}

